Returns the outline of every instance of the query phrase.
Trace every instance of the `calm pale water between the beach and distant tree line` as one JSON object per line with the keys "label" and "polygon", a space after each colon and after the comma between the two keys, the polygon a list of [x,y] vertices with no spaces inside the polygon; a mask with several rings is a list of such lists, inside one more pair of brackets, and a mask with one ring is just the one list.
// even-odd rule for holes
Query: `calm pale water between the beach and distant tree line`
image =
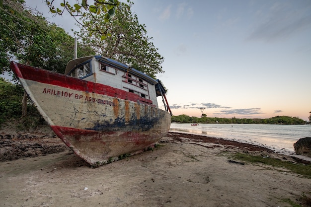
{"label": "calm pale water between the beach and distant tree line", "polygon": [[311,137],[310,125],[261,125],[261,124],[175,124],[170,132],[204,135],[252,143],[273,149],[283,154],[293,154],[294,143]]}

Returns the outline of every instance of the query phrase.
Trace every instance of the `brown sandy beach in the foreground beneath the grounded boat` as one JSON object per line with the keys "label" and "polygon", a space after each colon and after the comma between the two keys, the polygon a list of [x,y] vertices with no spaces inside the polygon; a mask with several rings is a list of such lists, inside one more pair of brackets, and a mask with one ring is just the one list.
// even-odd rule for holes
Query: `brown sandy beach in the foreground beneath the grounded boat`
{"label": "brown sandy beach in the foreground beneath the grounded boat", "polygon": [[311,179],[233,160],[295,162],[251,144],[169,132],[153,151],[92,169],[53,134],[0,135],[1,207],[290,207],[311,197]]}

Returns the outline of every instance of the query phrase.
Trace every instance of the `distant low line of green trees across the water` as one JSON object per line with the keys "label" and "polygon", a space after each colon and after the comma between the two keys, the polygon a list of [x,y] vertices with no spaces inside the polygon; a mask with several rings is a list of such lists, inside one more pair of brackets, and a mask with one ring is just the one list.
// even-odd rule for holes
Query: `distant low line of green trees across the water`
{"label": "distant low line of green trees across the water", "polygon": [[276,116],[268,119],[238,119],[238,118],[211,118],[211,117],[189,117],[188,115],[182,114],[178,116],[172,116],[171,122],[177,123],[202,123],[202,124],[284,124],[284,125],[296,125],[306,124],[304,120],[299,117],[290,116]]}

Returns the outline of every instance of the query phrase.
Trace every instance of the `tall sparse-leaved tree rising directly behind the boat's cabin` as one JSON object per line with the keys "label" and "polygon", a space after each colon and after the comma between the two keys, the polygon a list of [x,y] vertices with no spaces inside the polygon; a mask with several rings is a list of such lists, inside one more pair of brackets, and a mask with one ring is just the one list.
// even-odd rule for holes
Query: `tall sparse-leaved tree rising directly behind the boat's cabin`
{"label": "tall sparse-leaved tree rising directly behind the boat's cabin", "polygon": [[95,51],[104,57],[114,59],[130,67],[138,69],[148,75],[155,77],[156,73],[163,72],[163,57],[157,52],[157,48],[151,42],[153,39],[147,35],[146,26],[138,22],[138,17],[131,11],[132,2],[122,3],[122,10],[119,10],[113,21],[105,22],[104,14],[93,16],[86,14],[81,20],[88,25],[98,22],[96,29],[109,27],[107,37],[101,38],[100,34],[93,30],[80,27],[76,35],[83,44],[90,45]]}

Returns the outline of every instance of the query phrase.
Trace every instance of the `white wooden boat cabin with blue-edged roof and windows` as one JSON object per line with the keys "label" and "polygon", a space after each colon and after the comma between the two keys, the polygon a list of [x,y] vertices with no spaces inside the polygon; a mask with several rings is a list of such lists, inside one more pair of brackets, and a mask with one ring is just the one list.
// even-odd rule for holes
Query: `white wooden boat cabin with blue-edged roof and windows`
{"label": "white wooden boat cabin with blue-edged roof and windows", "polygon": [[102,56],[74,59],[68,63],[65,74],[134,93],[156,107],[156,97],[166,93],[159,80]]}

